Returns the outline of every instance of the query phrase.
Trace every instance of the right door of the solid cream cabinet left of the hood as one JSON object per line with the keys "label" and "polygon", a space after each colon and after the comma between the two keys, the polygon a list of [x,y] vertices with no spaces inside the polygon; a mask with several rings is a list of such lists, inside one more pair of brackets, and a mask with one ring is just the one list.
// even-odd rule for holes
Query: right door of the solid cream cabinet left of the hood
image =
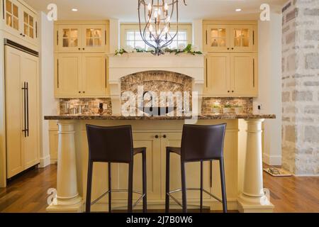
{"label": "right door of the solid cream cabinet left of the hood", "polygon": [[105,54],[84,53],[82,65],[82,96],[106,96],[108,86]]}

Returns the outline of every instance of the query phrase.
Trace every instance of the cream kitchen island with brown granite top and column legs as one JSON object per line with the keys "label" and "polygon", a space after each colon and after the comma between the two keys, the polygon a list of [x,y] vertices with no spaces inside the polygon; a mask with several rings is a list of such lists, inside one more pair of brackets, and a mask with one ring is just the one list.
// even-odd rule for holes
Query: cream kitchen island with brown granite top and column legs
{"label": "cream kitchen island with brown granite top and column legs", "polygon": [[[225,135],[225,178],[228,209],[241,212],[272,212],[263,189],[262,179],[262,122],[276,118],[274,115],[218,114],[198,116],[197,124],[212,125],[227,123]],[[147,148],[147,204],[148,209],[164,209],[165,149],[181,145],[181,130],[187,117],[125,117],[107,115],[45,116],[45,120],[58,123],[57,196],[47,207],[50,212],[82,212],[86,195],[88,146],[86,124],[98,126],[131,125],[135,147]],[[245,140],[245,141],[244,141]],[[114,151],[116,152],[116,151]],[[180,188],[179,157],[171,161],[171,189]],[[142,187],[141,157],[134,160],[134,189]],[[108,190],[107,164],[94,165],[92,201]],[[127,189],[128,166],[112,164],[113,189]],[[204,165],[204,188],[220,197],[218,163]],[[198,187],[199,163],[186,165],[186,186]],[[177,194],[180,198],[181,194]],[[136,198],[135,198],[136,199]],[[198,207],[199,194],[188,192],[189,208]],[[92,211],[107,211],[108,200],[103,197],[92,206]],[[179,209],[174,206],[172,209]],[[113,207],[125,209],[127,194],[114,194]],[[204,197],[204,206],[221,210],[221,204],[210,196]],[[140,209],[137,206],[135,209]]]}

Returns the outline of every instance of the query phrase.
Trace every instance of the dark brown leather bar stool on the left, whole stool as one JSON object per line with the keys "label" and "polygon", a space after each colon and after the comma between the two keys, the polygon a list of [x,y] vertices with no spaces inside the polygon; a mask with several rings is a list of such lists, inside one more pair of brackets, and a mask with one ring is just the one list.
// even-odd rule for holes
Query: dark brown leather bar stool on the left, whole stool
{"label": "dark brown leather bar stool on the left, whole stool", "polygon": [[[133,148],[131,126],[101,127],[86,125],[89,141],[89,170],[87,174],[86,212],[91,211],[91,205],[108,194],[108,211],[112,211],[112,192],[128,192],[128,212],[143,200],[143,212],[147,211],[146,197],[146,148]],[[142,193],[133,191],[133,156],[142,154]],[[92,171],[94,162],[108,163],[108,191],[91,202]],[[128,163],[128,190],[111,189],[111,163]],[[133,205],[133,193],[141,194]]]}

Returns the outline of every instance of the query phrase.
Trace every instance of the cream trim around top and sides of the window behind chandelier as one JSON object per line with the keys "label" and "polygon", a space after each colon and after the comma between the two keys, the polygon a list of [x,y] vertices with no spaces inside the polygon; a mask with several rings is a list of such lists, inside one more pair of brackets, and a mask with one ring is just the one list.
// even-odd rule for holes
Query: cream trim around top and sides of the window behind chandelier
{"label": "cream trim around top and sides of the window behind chandelier", "polygon": [[[172,23],[171,29],[175,30],[176,29],[176,24]],[[138,23],[121,23],[121,48],[125,48],[125,34],[126,31],[130,30],[140,30],[140,26]],[[179,30],[184,30],[187,31],[187,40],[188,44],[193,43],[193,30],[192,30],[192,24],[191,23],[179,23]]]}

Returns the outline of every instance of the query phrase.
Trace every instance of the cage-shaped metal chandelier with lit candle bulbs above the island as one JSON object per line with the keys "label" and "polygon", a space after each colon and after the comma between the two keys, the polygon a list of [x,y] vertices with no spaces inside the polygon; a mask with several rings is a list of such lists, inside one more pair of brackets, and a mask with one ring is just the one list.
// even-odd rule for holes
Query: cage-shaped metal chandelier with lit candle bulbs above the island
{"label": "cage-shaped metal chandelier with lit candle bulbs above the island", "polygon": [[[187,6],[186,0],[183,1]],[[175,10],[177,30],[172,34],[169,30]],[[142,13],[144,13],[145,26],[141,21]],[[164,48],[167,48],[179,33],[179,0],[171,0],[171,3],[164,0],[150,0],[148,4],[145,0],[138,0],[138,22],[142,40],[154,49],[152,54],[163,55]]]}

